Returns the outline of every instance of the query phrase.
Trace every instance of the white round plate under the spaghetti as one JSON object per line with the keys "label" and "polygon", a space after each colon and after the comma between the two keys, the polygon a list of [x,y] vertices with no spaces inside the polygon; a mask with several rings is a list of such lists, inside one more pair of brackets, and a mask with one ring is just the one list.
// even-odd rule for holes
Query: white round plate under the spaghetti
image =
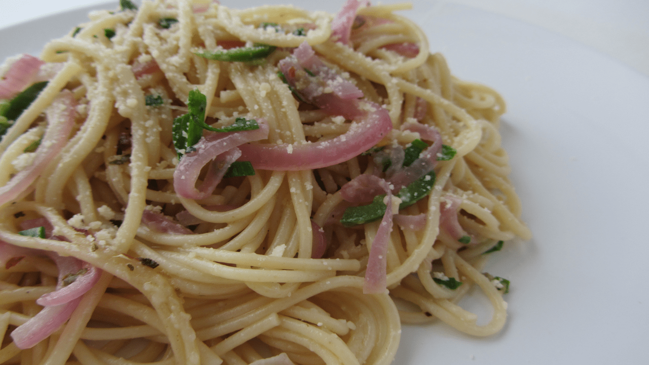
{"label": "white round plate under the spaghetti", "polygon": [[[338,3],[300,6],[336,11]],[[406,15],[453,73],[508,101],[503,143],[534,238],[506,246],[490,264],[512,283],[502,333],[473,338],[441,323],[405,326],[395,364],[646,363],[649,79],[527,23],[467,6],[413,3]],[[38,55],[87,11],[1,29],[0,58]]]}

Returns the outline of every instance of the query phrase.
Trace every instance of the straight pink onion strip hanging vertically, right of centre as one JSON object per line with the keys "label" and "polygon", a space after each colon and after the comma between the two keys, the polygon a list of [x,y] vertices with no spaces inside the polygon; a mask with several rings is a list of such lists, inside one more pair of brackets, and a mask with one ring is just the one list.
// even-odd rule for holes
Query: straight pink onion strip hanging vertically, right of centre
{"label": "straight pink onion strip hanging vertically, right of centre", "polygon": [[[363,176],[363,175],[360,175]],[[367,269],[365,270],[365,281],[363,283],[363,293],[365,294],[383,294],[387,290],[387,245],[392,231],[392,190],[384,179],[374,175],[368,181],[378,184],[386,192],[384,203],[386,203],[386,212],[383,215],[372,247],[369,250],[367,258]],[[358,178],[358,177],[357,177]],[[363,178],[365,179],[365,178]]]}

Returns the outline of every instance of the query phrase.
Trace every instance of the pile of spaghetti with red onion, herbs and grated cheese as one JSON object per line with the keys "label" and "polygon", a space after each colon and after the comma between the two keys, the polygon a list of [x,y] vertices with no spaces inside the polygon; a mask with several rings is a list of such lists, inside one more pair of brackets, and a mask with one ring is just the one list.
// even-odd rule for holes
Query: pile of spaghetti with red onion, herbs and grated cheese
{"label": "pile of spaghetti with red onion, herbs and grated cheese", "polygon": [[[122,0],[0,70],[0,363],[389,364],[527,239],[502,99],[409,5]],[[489,323],[457,301],[471,288]]]}

